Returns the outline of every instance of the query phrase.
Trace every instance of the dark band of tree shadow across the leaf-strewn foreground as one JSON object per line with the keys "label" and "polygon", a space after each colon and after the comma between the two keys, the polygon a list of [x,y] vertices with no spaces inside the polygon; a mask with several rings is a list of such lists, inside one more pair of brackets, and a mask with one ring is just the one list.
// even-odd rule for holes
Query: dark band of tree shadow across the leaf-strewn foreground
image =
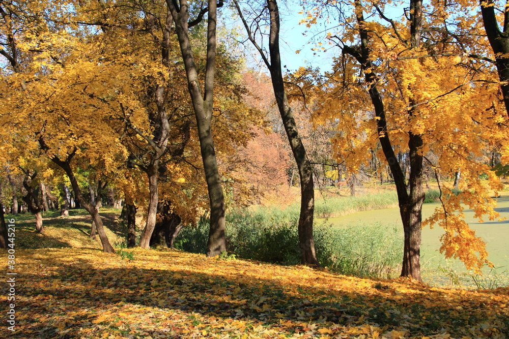
{"label": "dark band of tree shadow across the leaf-strewn foreground", "polygon": [[[162,255],[170,260],[173,257],[167,252]],[[64,263],[71,260],[65,254],[48,254],[43,260],[52,267],[47,275],[40,272],[18,275],[20,288],[16,293],[22,298],[16,307],[25,310],[32,321],[20,323],[12,338],[26,337],[29,333],[39,333],[40,338],[80,337],[80,328],[95,328],[98,336],[103,326],[98,322],[101,314],[119,313],[125,305],[142,310],[141,315],[156,312],[175,318],[173,331],[194,326],[193,322],[212,324],[217,319],[222,322],[235,319],[267,328],[284,324],[288,333],[304,333],[302,323],[327,321],[329,327],[371,324],[389,330],[406,328],[411,336],[447,330],[452,336],[461,337],[466,332],[460,329],[491,319],[498,326],[492,331],[509,334],[507,305],[504,309],[486,295],[476,298],[461,293],[441,295],[438,290],[422,285],[405,291],[383,281],[372,282],[373,286],[359,292],[353,287],[361,280],[349,277],[344,279],[351,281],[352,291],[338,290],[333,285],[320,285],[313,274],[300,276],[300,282],[283,280],[282,276],[260,278],[255,271],[259,269],[256,263],[244,264],[248,266],[244,270],[238,263],[222,262],[222,272],[205,272],[191,266],[173,270],[141,268],[136,261],[122,261],[112,255],[108,260],[116,262],[117,267],[101,269],[94,268],[92,257],[72,259],[72,264]],[[207,260],[212,259],[196,259],[196,267],[205,266]],[[292,268],[278,268],[281,275],[287,270],[293,272]],[[335,277],[323,274],[327,279]],[[316,283],[310,279],[316,279]],[[70,330],[63,333],[61,322],[69,315],[72,315],[68,320]],[[180,322],[179,316],[183,317]],[[165,326],[163,320],[149,317],[144,321],[147,335],[168,337],[168,330],[161,329]],[[117,326],[111,323],[102,328]]]}

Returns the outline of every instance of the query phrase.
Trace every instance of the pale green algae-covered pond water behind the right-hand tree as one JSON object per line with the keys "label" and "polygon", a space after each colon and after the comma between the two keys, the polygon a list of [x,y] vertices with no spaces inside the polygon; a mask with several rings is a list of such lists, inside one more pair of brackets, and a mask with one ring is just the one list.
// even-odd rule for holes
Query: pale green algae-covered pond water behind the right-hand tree
{"label": "pale green algae-covered pond water behind the right-hand tree", "polygon": [[[430,217],[440,203],[426,203],[422,205],[422,217]],[[505,221],[488,221],[479,223],[474,219],[474,212],[465,209],[465,221],[470,228],[475,230],[477,236],[486,241],[486,248],[489,253],[488,259],[495,265],[496,269],[491,271],[489,267],[483,269],[484,275],[478,277],[479,282],[486,287],[509,285],[509,194],[505,193],[497,198],[496,210]],[[319,219],[318,223],[326,222],[333,227],[348,227],[355,225],[381,225],[386,227],[397,227],[401,230],[403,242],[403,226],[401,224],[398,208],[386,208],[371,211],[361,211],[344,217]],[[440,254],[440,236],[444,233],[441,227],[422,230],[421,243],[421,271],[422,280],[434,286],[462,286],[475,287],[471,278],[473,272],[469,272],[463,263],[455,259],[445,259]],[[491,272],[490,272],[491,271]]]}

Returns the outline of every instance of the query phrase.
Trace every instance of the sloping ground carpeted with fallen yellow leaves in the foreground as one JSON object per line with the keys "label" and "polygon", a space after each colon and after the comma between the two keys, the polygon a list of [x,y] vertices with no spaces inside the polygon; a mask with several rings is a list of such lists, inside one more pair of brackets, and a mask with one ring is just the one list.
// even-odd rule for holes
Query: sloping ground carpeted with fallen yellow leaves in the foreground
{"label": "sloping ground carpeted with fallen yellow leaves in the foreground", "polygon": [[3,325],[0,337],[509,337],[508,288],[431,288],[174,250],[133,257],[16,250],[16,331]]}

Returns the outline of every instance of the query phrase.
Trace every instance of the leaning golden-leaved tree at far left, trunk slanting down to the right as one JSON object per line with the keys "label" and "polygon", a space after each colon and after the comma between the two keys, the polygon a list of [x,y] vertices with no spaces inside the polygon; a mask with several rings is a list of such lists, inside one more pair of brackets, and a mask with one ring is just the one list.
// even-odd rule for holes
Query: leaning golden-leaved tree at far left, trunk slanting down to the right
{"label": "leaning golden-leaved tree at far left, trunk slanting down to the right", "polygon": [[[91,81],[85,80],[84,82],[72,80],[73,77],[74,79],[78,78],[78,74],[83,70],[78,71],[72,67],[67,69],[65,65],[67,59],[54,53],[69,52],[68,48],[73,40],[69,38],[69,35],[63,33],[63,30],[59,30],[60,26],[48,25],[44,19],[48,16],[43,15],[44,13],[41,13],[39,7],[31,7],[33,4],[30,3],[21,5],[24,7],[11,4],[9,11],[3,10],[4,13],[9,13],[8,16],[3,16],[7,22],[7,30],[2,32],[2,37],[7,37],[10,52],[8,56],[4,53],[3,55],[9,60],[12,72],[7,74],[8,77],[2,82],[2,94],[10,99],[2,106],[2,124],[4,127],[11,126],[11,133],[16,136],[23,136],[27,149],[39,147],[45,156],[65,171],[76,197],[81,205],[89,211],[97,225],[103,250],[109,253],[114,252],[102,227],[99,214],[84,201],[80,194],[75,168],[72,164],[73,159],[86,158],[86,156],[81,157],[82,155],[91,156],[89,160],[98,159],[97,155],[93,155],[93,153],[99,149],[105,157],[108,157],[110,154],[107,151],[104,152],[104,145],[116,144],[108,138],[111,135],[109,131],[101,131],[101,128],[97,128],[97,126],[94,126],[94,130],[98,134],[84,137],[83,126],[95,121],[97,105],[100,105],[98,103],[100,100],[96,102],[97,105],[94,103],[87,105],[77,99],[76,95],[83,93],[83,88],[87,88],[94,80],[91,78],[88,78]],[[23,11],[24,15],[18,15],[19,11]],[[59,15],[58,13],[55,11],[54,16],[49,17],[55,19]],[[21,29],[16,29],[16,26]],[[39,39],[33,39],[36,36]],[[61,39],[60,50],[53,48],[55,43],[53,39],[56,37]],[[72,53],[66,56],[71,57]],[[21,59],[25,60],[23,68],[19,61]],[[68,74],[63,74],[60,71],[64,69],[71,71]],[[27,86],[29,82],[30,88]],[[81,87],[77,88],[76,85]],[[95,89],[100,91],[99,87],[95,87]],[[69,101],[66,101],[67,99]],[[16,102],[15,106],[11,106],[13,102]],[[48,107],[51,108],[48,109]],[[70,115],[75,111],[80,114]],[[83,120],[79,120],[80,118]],[[96,140],[103,140],[105,144],[92,145],[91,141]],[[111,157],[111,159],[113,158],[115,157]]]}

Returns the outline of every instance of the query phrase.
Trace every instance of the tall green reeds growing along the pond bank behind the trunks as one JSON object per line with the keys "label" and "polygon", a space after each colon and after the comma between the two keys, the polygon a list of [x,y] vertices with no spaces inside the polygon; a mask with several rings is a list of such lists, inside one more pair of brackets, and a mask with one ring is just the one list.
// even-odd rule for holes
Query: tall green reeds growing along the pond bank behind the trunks
{"label": "tall green reeds growing along the pond bank behind the trunks", "polygon": [[[383,194],[347,199],[348,208],[385,206]],[[330,199],[337,203],[338,199]],[[332,203],[325,203],[327,207]],[[349,209],[343,209],[347,211]],[[362,209],[358,209],[362,210]],[[335,211],[322,212],[335,215]],[[239,258],[294,265],[300,263],[297,223],[299,210],[290,206],[237,210],[227,213],[227,246]],[[205,253],[208,220],[200,220],[197,228],[184,228],[176,239],[176,247],[194,253]],[[329,225],[314,228],[315,248],[320,264],[332,271],[357,276],[387,278],[399,268],[403,254],[402,237],[394,229],[380,225],[358,225],[333,229]]]}

